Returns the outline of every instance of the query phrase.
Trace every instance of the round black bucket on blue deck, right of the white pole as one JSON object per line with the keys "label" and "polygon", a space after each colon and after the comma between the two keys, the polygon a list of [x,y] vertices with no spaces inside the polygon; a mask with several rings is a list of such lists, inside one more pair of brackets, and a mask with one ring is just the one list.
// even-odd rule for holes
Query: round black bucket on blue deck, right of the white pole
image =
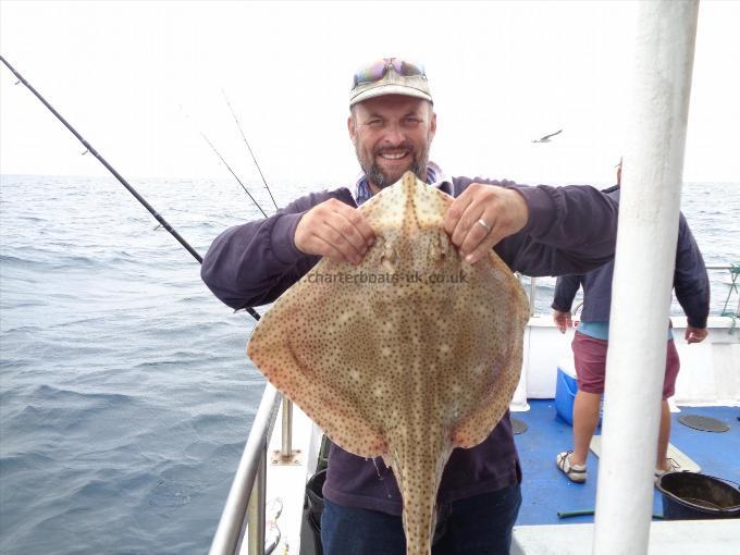
{"label": "round black bucket on blue deck, right of the white pole", "polygon": [[740,518],[740,489],[698,472],[667,472],[657,482],[666,520]]}

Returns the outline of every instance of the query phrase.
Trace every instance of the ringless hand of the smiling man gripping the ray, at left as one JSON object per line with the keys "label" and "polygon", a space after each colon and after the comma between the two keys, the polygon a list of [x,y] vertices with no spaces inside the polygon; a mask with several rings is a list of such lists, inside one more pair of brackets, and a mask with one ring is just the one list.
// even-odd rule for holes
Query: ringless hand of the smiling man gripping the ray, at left
{"label": "ringless hand of the smiling man gripping the ray, at left", "polygon": [[375,240],[359,210],[330,198],[314,206],[298,222],[294,243],[307,255],[359,264]]}

